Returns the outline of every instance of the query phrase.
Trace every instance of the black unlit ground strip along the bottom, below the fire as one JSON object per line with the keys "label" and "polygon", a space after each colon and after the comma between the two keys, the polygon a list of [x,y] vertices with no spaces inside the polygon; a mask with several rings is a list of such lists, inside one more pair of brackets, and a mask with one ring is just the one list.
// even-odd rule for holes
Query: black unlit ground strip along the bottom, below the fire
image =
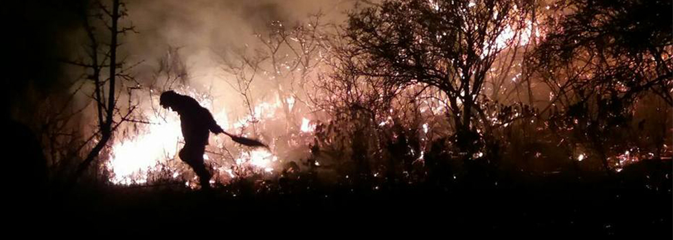
{"label": "black unlit ground strip along the bottom, below the fire", "polygon": [[672,239],[670,161],[657,166],[655,173],[581,179],[557,174],[499,179],[497,185],[493,180],[367,187],[296,182],[280,189],[273,188],[276,182],[262,187],[249,182],[248,191],[239,184],[212,193],[175,185],[80,187],[60,200],[38,201],[41,210],[33,204],[11,210],[25,226],[95,232],[181,229],[255,235],[280,230],[291,236],[367,230],[441,232],[445,237]]}

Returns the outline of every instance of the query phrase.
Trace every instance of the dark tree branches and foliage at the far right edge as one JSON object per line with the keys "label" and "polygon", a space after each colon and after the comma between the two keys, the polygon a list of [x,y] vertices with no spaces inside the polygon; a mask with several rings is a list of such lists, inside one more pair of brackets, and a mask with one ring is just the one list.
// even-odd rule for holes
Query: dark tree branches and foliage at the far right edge
{"label": "dark tree branches and foliage at the far right edge", "polygon": [[[546,38],[530,55],[533,73],[549,87],[558,130],[590,143],[604,169],[624,152],[633,108],[646,95],[673,106],[670,1],[554,3]],[[657,153],[658,155],[659,153]]]}

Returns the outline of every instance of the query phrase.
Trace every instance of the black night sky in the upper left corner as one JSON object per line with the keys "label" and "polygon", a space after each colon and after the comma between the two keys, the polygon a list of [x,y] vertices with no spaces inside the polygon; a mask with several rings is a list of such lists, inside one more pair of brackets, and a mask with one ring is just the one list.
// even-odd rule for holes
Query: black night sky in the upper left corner
{"label": "black night sky in the upper left corner", "polygon": [[[52,1],[3,1],[3,86],[6,114],[8,106],[30,106],[27,91],[38,95],[57,91],[61,75],[58,58],[71,51],[66,36],[76,29],[76,21],[60,4]],[[38,96],[33,96],[38,97]]]}

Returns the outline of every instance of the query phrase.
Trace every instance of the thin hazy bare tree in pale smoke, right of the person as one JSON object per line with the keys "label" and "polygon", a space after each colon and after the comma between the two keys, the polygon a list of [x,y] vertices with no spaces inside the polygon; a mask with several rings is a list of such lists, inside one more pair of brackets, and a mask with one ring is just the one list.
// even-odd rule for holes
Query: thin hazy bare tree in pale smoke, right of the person
{"label": "thin hazy bare tree in pale smoke, right of the person", "polygon": [[321,14],[315,14],[307,23],[294,27],[273,21],[264,34],[255,34],[258,47],[238,49],[233,56],[221,57],[223,71],[235,77],[228,84],[244,97],[251,115],[254,116],[251,86],[266,83],[273,86],[286,117],[286,132],[297,129],[295,101],[309,102],[304,87],[320,62],[320,17]]}

